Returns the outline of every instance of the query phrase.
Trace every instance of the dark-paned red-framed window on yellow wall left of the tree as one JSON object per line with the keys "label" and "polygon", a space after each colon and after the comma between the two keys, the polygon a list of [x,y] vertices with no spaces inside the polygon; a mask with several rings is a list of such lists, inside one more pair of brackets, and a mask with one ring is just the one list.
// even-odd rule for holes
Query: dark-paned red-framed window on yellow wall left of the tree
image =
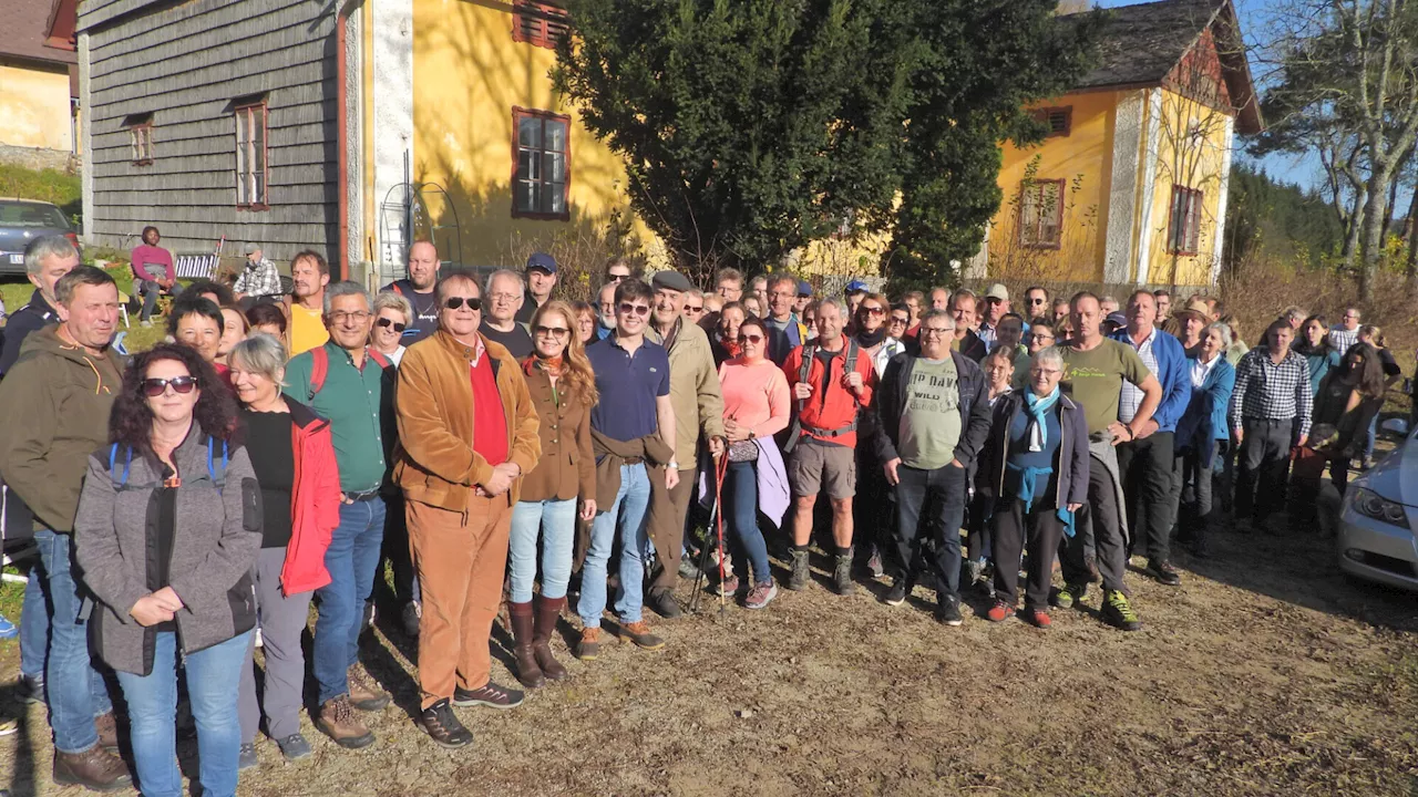
{"label": "dark-paned red-framed window on yellow wall left of the tree", "polygon": [[512,109],[512,216],[569,221],[571,118]]}

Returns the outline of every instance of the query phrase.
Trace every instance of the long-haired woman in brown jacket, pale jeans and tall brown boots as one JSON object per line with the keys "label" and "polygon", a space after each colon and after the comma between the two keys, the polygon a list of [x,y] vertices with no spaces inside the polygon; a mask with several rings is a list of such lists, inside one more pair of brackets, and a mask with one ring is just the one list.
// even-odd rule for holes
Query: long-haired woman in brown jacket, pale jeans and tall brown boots
{"label": "long-haired woman in brown jacket, pale jeans and tall brown boots", "polygon": [[[512,508],[508,607],[518,681],[529,688],[540,686],[546,678],[566,678],[566,668],[552,655],[549,642],[571,579],[576,502],[581,502],[581,520],[596,518],[591,408],[598,396],[596,374],[574,329],[576,312],[570,305],[562,301],[542,305],[532,316],[533,353],[522,362],[540,421],[542,459],[522,479],[522,495]],[[542,542],[542,596],[533,607],[537,540]]]}

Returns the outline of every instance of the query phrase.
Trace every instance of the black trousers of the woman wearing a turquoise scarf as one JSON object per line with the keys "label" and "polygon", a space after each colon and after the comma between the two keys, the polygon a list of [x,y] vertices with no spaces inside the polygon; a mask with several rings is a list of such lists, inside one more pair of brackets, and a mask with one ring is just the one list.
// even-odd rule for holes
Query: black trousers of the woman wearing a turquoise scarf
{"label": "black trousers of the woman wearing a turquoise scarf", "polygon": [[1020,594],[1020,552],[1025,537],[1029,546],[1029,580],[1024,593],[1024,608],[1045,610],[1049,606],[1049,580],[1054,576],[1054,556],[1064,539],[1064,522],[1052,502],[1035,505],[1024,512],[1024,502],[1007,498],[994,508],[994,591],[1014,606]]}

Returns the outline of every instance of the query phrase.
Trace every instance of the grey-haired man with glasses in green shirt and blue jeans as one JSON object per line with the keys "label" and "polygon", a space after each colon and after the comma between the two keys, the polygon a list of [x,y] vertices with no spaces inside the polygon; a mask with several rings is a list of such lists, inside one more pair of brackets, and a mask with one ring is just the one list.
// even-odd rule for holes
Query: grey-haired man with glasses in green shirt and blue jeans
{"label": "grey-haired man with glasses in green shirt and blue jeans", "polygon": [[[364,288],[343,281],[323,292],[329,340],[291,359],[285,394],[330,421],[340,471],[340,525],[325,552],[330,583],[316,591],[319,615],[311,647],[319,706],[315,726],[336,745],[359,749],[372,745],[374,735],[353,709],[389,705],[389,693],[359,662],[359,634],[384,542],[387,508],[380,486],[394,448],[394,366],[383,355],[369,353],[374,312]],[[318,379],[316,356],[323,360],[323,380]]]}

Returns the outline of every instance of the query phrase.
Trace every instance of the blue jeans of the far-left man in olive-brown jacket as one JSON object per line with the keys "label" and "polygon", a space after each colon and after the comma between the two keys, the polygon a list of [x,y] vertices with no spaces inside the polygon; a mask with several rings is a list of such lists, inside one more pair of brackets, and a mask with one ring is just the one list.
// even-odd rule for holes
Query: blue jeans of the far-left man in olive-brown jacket
{"label": "blue jeans of the far-left man in olive-brown jacket", "polygon": [[50,728],[61,753],[82,753],[98,745],[94,718],[113,710],[108,686],[88,655],[88,628],[79,620],[79,590],[74,581],[69,535],[34,532],[40,546],[44,597],[50,608],[50,659],[44,684],[50,695]]}

